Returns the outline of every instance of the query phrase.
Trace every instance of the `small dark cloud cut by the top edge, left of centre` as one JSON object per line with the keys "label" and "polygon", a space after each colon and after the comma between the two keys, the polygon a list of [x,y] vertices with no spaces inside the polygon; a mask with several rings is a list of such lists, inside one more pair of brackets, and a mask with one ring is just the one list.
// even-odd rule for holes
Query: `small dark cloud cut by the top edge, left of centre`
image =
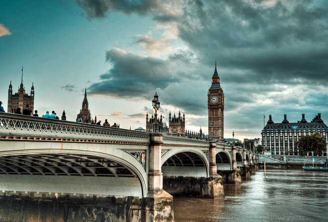
{"label": "small dark cloud cut by the top edge, left of centre", "polygon": [[75,0],[90,18],[103,18],[111,11],[146,15],[161,10],[160,0]]}

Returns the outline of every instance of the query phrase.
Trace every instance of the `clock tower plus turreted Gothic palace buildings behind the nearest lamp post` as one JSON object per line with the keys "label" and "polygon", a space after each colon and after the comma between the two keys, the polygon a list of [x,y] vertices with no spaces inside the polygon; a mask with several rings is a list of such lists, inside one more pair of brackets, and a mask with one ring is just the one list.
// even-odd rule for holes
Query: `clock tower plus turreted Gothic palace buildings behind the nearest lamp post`
{"label": "clock tower plus turreted Gothic palace buildings behind the nearest lamp post", "polygon": [[[208,107],[208,132],[209,136],[213,135],[213,140],[217,142],[224,142],[224,93],[220,85],[220,76],[218,74],[215,62],[215,70],[212,76],[212,85],[207,93],[207,107]],[[199,132],[190,132],[185,130],[185,114],[181,116],[179,111],[178,116],[171,116],[171,112],[168,115],[168,126],[164,117],[158,117],[157,122],[159,124],[159,132],[170,135],[181,135],[186,137],[199,137],[204,138],[200,128]],[[154,115],[149,117],[148,112],[146,114],[146,131],[153,131],[153,124],[155,123]],[[213,124],[213,128],[211,127]],[[213,134],[212,134],[213,133]]]}

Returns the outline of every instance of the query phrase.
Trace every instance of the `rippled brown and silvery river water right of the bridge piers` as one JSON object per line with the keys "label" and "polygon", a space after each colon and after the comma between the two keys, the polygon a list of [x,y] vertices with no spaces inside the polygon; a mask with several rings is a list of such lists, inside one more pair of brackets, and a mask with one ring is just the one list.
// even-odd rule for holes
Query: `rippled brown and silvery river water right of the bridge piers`
{"label": "rippled brown and silvery river water right of the bridge piers", "polygon": [[328,172],[259,170],[224,199],[173,198],[175,222],[328,222]]}

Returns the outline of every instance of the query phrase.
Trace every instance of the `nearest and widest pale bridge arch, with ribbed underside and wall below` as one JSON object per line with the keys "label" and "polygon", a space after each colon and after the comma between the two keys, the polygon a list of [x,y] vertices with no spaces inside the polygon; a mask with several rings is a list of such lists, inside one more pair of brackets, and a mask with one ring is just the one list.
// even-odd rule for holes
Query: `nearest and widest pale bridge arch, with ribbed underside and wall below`
{"label": "nearest and widest pale bridge arch, with ribbed underside and wall below", "polygon": [[110,144],[62,142],[28,144],[26,146],[22,141],[1,142],[0,178],[3,182],[0,190],[147,195],[146,164],[142,165],[133,156],[136,151],[131,147],[112,149],[108,147]]}

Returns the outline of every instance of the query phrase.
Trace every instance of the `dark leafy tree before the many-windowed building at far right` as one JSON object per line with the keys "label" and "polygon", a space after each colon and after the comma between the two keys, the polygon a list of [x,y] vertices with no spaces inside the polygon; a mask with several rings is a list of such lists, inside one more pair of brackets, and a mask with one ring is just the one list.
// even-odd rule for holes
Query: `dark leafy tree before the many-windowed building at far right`
{"label": "dark leafy tree before the many-windowed building at far right", "polygon": [[325,138],[318,132],[311,135],[302,135],[298,141],[295,141],[295,145],[298,146],[301,156],[304,156],[306,152],[312,151],[314,155],[317,156],[327,149]]}

